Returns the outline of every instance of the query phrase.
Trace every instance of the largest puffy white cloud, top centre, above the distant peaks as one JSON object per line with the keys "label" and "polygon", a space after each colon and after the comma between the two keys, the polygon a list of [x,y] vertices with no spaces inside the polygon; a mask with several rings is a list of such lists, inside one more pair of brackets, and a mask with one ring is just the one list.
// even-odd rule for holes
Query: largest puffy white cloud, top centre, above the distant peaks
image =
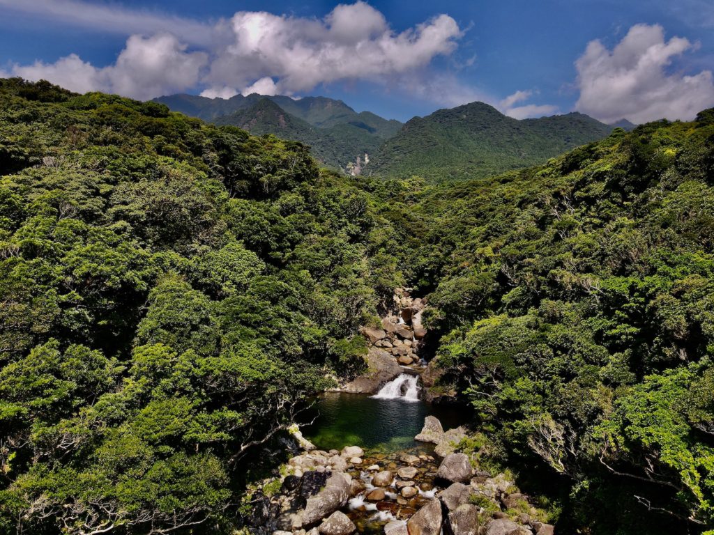
{"label": "largest puffy white cloud, top centre, above the distant peaks", "polygon": [[231,39],[216,50],[206,80],[243,93],[266,76],[276,91],[289,94],[319,83],[414,71],[450,54],[461,37],[447,15],[396,34],[379,11],[361,1],[341,4],[323,20],[240,11],[222,24]]}

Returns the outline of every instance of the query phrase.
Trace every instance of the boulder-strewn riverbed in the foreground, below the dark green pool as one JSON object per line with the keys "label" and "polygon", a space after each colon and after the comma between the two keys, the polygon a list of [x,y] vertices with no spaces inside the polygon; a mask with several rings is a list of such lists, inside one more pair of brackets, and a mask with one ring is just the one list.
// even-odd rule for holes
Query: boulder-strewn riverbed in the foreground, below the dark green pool
{"label": "boulder-strewn riverbed in the foreground, below the dark green pool", "polygon": [[[303,451],[253,496],[248,528],[272,535],[549,535],[553,526],[506,474],[459,451],[466,429],[427,417],[423,447],[383,454],[348,446]],[[279,484],[279,490],[278,488]],[[267,494],[272,494],[268,496]]]}

